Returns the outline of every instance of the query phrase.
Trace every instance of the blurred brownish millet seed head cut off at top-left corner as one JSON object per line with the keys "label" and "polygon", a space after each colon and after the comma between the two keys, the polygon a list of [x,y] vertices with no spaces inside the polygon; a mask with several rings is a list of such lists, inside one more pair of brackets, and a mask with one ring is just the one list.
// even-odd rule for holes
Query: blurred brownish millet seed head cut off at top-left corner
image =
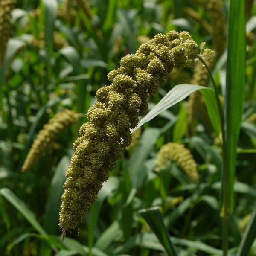
{"label": "blurred brownish millet seed head cut off at top-left corner", "polygon": [[3,64],[7,42],[11,33],[11,12],[16,0],[0,0],[0,66]]}

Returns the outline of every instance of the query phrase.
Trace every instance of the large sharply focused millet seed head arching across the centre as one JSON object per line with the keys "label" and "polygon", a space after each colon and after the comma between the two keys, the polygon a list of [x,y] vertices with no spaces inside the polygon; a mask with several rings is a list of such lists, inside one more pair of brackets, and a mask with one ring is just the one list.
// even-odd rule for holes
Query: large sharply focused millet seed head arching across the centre
{"label": "large sharply focused millet seed head arching across the centre", "polygon": [[123,148],[131,144],[130,129],[147,113],[149,94],[157,92],[174,67],[191,67],[197,49],[188,32],[157,34],[135,54],[123,57],[120,67],[108,74],[111,85],[97,91],[97,102],[87,111],[88,122],[73,144],[75,152],[61,197],[63,238],[85,217]]}

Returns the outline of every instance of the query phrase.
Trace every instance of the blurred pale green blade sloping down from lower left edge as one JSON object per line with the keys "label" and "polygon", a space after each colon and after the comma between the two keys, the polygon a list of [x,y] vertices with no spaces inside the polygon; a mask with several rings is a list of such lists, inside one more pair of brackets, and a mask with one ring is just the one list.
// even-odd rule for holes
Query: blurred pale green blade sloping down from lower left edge
{"label": "blurred pale green blade sloping down from lower left edge", "polygon": [[9,203],[11,203],[26,218],[26,220],[32,225],[32,227],[35,228],[35,230],[39,234],[46,235],[45,230],[36,220],[33,212],[31,212],[29,208],[26,207],[24,202],[21,201],[10,189],[8,188],[0,189],[0,194],[4,198],[6,198],[6,200],[9,201]]}

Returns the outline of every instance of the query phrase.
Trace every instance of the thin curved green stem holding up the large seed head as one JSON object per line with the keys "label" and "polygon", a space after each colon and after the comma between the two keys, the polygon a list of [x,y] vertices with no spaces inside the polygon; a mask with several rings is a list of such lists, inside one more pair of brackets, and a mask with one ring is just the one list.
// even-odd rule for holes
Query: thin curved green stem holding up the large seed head
{"label": "thin curved green stem holding up the large seed head", "polygon": [[224,114],[223,114],[223,109],[221,107],[221,101],[218,95],[218,90],[217,90],[217,85],[214,81],[214,78],[212,76],[212,72],[207,65],[207,63],[204,61],[204,59],[198,55],[198,59],[205,65],[209,77],[212,81],[212,85],[215,91],[215,96],[217,100],[217,105],[218,105],[218,112],[219,116],[221,119],[221,132],[222,132],[222,158],[223,158],[223,173],[222,173],[222,199],[223,199],[223,205],[224,209],[221,209],[221,217],[223,219],[223,236],[222,236],[222,247],[223,247],[223,256],[227,256],[227,251],[228,251],[228,223],[229,223],[229,215],[230,215],[230,209],[229,209],[229,204],[228,204],[228,170],[227,170],[227,161],[226,161],[226,141],[225,141],[225,130],[224,130]]}

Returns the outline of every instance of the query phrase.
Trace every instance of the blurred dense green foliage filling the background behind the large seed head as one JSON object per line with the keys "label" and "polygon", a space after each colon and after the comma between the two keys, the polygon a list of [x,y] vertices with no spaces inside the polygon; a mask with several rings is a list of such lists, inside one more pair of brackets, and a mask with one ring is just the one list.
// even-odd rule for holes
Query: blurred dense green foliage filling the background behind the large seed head
{"label": "blurred dense green foliage filling the background behind the large seed head", "polygon": [[[86,116],[64,131],[31,170],[22,173],[21,166],[50,118],[64,108],[85,114],[95,102],[96,90],[109,84],[107,74],[119,67],[122,56],[134,53],[155,34],[186,30],[199,45],[206,42],[214,50],[225,45],[229,1],[212,1],[213,9],[221,5],[224,20],[207,6],[211,1],[69,2],[67,8],[61,0],[17,0],[12,11],[11,38],[0,68],[0,251],[10,256],[167,255],[139,212],[159,206],[178,255],[221,255],[221,139],[205,105],[190,128],[188,98],[144,124],[137,147],[124,151],[79,229],[63,242],[58,212],[64,175]],[[251,33],[247,34],[230,253],[237,251],[256,198],[255,15],[256,5],[247,0]],[[216,19],[221,20],[218,26]],[[226,61],[223,49],[212,65],[221,96],[225,96]],[[165,86],[150,97],[149,109],[175,84],[190,83],[193,73],[193,69],[174,70]],[[210,81],[207,85],[212,86]],[[191,151],[198,183],[175,162],[156,170],[157,152],[168,142],[184,144]],[[253,243],[250,255],[255,254]]]}

